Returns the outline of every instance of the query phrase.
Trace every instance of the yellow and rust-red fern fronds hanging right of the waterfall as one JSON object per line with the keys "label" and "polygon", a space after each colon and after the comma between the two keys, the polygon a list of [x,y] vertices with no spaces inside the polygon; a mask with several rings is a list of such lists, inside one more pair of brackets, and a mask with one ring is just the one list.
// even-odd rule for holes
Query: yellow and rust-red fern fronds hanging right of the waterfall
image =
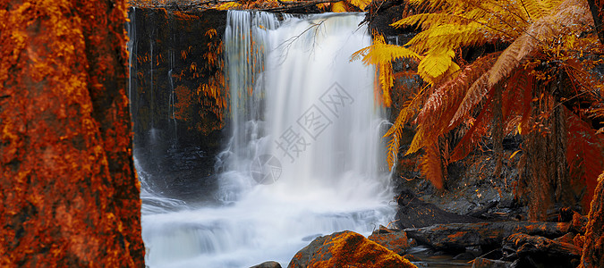
{"label": "yellow and rust-red fern fronds hanging right of the waterfall", "polygon": [[[577,0],[404,3],[412,12],[392,26],[419,33],[404,46],[387,45],[376,34],[373,46],[353,55],[379,66],[386,104],[392,60],[417,62],[416,73],[425,82],[387,131],[388,162],[396,162],[401,131],[413,123],[417,132],[406,154],[423,152],[423,174],[443,188],[449,163],[490,138],[500,166],[501,141],[520,134],[518,188],[532,202],[532,218],[541,218],[553,202],[573,203],[576,197],[583,196],[587,207],[604,164],[596,133],[603,115],[595,72],[602,46],[589,5]],[[541,197],[523,192],[534,187]]]}

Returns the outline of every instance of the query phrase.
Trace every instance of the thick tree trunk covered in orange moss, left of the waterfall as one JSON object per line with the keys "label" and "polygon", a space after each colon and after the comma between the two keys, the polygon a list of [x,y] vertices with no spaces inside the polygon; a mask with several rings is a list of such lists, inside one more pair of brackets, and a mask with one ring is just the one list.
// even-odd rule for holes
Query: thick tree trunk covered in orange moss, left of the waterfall
{"label": "thick tree trunk covered in orange moss, left of the waterfall", "polygon": [[0,4],[0,266],[143,266],[124,1]]}

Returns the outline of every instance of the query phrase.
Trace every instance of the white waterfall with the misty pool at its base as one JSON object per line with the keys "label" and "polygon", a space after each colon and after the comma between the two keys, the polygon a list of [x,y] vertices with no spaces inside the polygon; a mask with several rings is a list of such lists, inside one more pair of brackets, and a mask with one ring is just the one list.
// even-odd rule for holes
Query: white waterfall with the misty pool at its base
{"label": "white waterfall with the misty pool at its base", "polygon": [[392,218],[374,70],[349,61],[370,45],[362,17],[228,13],[234,137],[219,157],[221,205],[143,205],[150,267],[286,266],[318,235]]}

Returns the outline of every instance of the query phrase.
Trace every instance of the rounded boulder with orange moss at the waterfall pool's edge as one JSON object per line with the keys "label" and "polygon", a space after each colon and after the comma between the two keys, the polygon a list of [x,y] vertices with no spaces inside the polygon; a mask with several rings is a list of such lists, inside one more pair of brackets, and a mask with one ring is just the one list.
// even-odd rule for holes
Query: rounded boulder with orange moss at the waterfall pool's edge
{"label": "rounded boulder with orange moss at the waterfall pool's edge", "polygon": [[402,256],[350,230],[314,239],[287,266],[295,267],[416,267]]}

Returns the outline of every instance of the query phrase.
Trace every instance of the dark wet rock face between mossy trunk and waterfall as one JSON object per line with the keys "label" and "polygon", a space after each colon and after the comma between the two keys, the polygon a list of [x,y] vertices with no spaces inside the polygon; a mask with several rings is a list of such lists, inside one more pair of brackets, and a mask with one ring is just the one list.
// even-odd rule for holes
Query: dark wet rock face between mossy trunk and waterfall
{"label": "dark wet rock face between mossy trunk and waterfall", "polygon": [[209,199],[217,187],[216,155],[228,137],[226,12],[132,8],[129,15],[134,155],[148,177],[143,187],[165,197]]}

